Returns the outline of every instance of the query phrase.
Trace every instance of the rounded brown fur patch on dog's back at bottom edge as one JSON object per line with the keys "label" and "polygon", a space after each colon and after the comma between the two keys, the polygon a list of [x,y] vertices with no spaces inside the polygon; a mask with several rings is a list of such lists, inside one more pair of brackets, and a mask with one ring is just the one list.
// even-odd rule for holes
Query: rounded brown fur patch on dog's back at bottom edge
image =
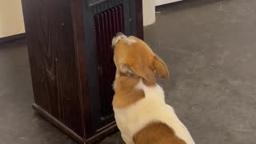
{"label": "rounded brown fur patch on dog's back at bottom edge", "polygon": [[186,144],[162,122],[151,122],[134,135],[134,144]]}

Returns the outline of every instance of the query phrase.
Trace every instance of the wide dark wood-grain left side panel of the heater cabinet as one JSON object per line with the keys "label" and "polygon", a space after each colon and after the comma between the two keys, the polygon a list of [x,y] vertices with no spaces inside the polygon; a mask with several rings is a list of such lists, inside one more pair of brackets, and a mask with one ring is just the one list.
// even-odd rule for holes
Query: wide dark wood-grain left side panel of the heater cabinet
{"label": "wide dark wood-grain left side panel of the heater cabinet", "polygon": [[84,137],[74,23],[69,0],[22,0],[38,106]]}

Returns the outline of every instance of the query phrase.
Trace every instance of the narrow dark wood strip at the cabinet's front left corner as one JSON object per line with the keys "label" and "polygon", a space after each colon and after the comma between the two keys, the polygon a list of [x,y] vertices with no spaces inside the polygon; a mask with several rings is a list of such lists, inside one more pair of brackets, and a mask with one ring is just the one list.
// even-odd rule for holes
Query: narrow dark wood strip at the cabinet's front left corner
{"label": "narrow dark wood strip at the cabinet's front left corner", "polygon": [[[75,52],[78,66],[78,82],[81,94],[80,103],[82,104],[82,127],[83,127],[83,138],[90,138],[92,134],[91,129],[91,114],[90,114],[90,90],[88,86],[88,78],[86,77],[86,52],[85,52],[85,36],[84,36],[84,25],[83,25],[83,2],[81,0],[74,0],[71,4],[71,15],[73,19],[74,28],[74,39],[75,41]],[[86,131],[87,130],[87,131]]]}

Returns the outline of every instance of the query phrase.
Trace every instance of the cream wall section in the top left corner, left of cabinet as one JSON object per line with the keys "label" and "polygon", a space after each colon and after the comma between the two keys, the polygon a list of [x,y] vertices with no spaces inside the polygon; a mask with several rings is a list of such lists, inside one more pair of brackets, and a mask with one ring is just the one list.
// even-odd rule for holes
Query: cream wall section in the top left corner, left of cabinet
{"label": "cream wall section in the top left corner, left of cabinet", "polygon": [[0,0],[0,38],[25,33],[21,0]]}

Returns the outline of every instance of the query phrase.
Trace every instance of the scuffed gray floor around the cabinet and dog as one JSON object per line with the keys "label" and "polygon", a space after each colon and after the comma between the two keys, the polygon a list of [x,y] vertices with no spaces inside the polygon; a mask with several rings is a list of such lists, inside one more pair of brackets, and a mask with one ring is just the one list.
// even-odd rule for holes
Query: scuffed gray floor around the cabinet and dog
{"label": "scuffed gray floor around the cabinet and dog", "polygon": [[[186,0],[158,7],[146,42],[170,67],[166,101],[198,144],[256,141],[256,1]],[[31,109],[26,43],[0,48],[0,141],[73,144]],[[122,143],[114,134],[102,144]]]}

